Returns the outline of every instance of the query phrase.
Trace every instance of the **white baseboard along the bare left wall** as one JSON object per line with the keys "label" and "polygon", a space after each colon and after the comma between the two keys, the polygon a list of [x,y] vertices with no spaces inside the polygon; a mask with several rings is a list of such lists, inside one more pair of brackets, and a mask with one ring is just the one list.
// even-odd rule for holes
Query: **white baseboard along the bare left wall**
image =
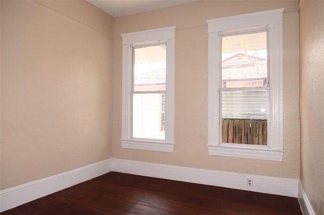
{"label": "white baseboard along the bare left wall", "polygon": [[65,173],[0,191],[0,212],[55,193],[111,171],[111,158]]}

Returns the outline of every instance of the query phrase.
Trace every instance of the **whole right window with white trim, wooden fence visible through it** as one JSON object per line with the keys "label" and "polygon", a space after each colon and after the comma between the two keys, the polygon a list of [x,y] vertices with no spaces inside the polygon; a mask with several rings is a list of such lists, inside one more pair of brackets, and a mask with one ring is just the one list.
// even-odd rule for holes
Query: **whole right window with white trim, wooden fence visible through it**
{"label": "whole right window with white trim, wooden fence visible through it", "polygon": [[210,155],[282,160],[282,12],[207,20]]}

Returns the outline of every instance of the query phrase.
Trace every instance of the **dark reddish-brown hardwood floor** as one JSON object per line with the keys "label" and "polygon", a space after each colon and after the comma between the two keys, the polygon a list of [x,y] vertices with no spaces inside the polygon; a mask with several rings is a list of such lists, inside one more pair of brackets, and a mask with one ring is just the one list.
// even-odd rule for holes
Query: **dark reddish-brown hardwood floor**
{"label": "dark reddish-brown hardwood floor", "polygon": [[302,214],[297,198],[111,172],[1,214]]}

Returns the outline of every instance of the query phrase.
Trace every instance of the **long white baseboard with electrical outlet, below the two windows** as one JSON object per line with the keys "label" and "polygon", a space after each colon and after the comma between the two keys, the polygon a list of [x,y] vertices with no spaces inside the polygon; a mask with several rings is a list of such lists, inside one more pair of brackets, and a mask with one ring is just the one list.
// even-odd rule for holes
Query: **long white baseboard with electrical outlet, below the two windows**
{"label": "long white baseboard with electrical outlet, below the two windows", "polygon": [[[249,190],[260,193],[291,196],[296,198],[298,197],[299,180],[297,179],[221,172],[115,158],[112,159],[112,171],[240,190]],[[248,178],[253,180],[252,187],[247,185]]]}

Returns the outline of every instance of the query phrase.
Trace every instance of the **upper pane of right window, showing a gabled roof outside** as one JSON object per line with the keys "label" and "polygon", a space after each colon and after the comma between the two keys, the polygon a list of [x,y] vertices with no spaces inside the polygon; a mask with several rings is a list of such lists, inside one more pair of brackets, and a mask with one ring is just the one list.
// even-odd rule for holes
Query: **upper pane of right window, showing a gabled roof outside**
{"label": "upper pane of right window, showing a gabled roof outside", "polygon": [[222,87],[267,83],[267,32],[222,37]]}

